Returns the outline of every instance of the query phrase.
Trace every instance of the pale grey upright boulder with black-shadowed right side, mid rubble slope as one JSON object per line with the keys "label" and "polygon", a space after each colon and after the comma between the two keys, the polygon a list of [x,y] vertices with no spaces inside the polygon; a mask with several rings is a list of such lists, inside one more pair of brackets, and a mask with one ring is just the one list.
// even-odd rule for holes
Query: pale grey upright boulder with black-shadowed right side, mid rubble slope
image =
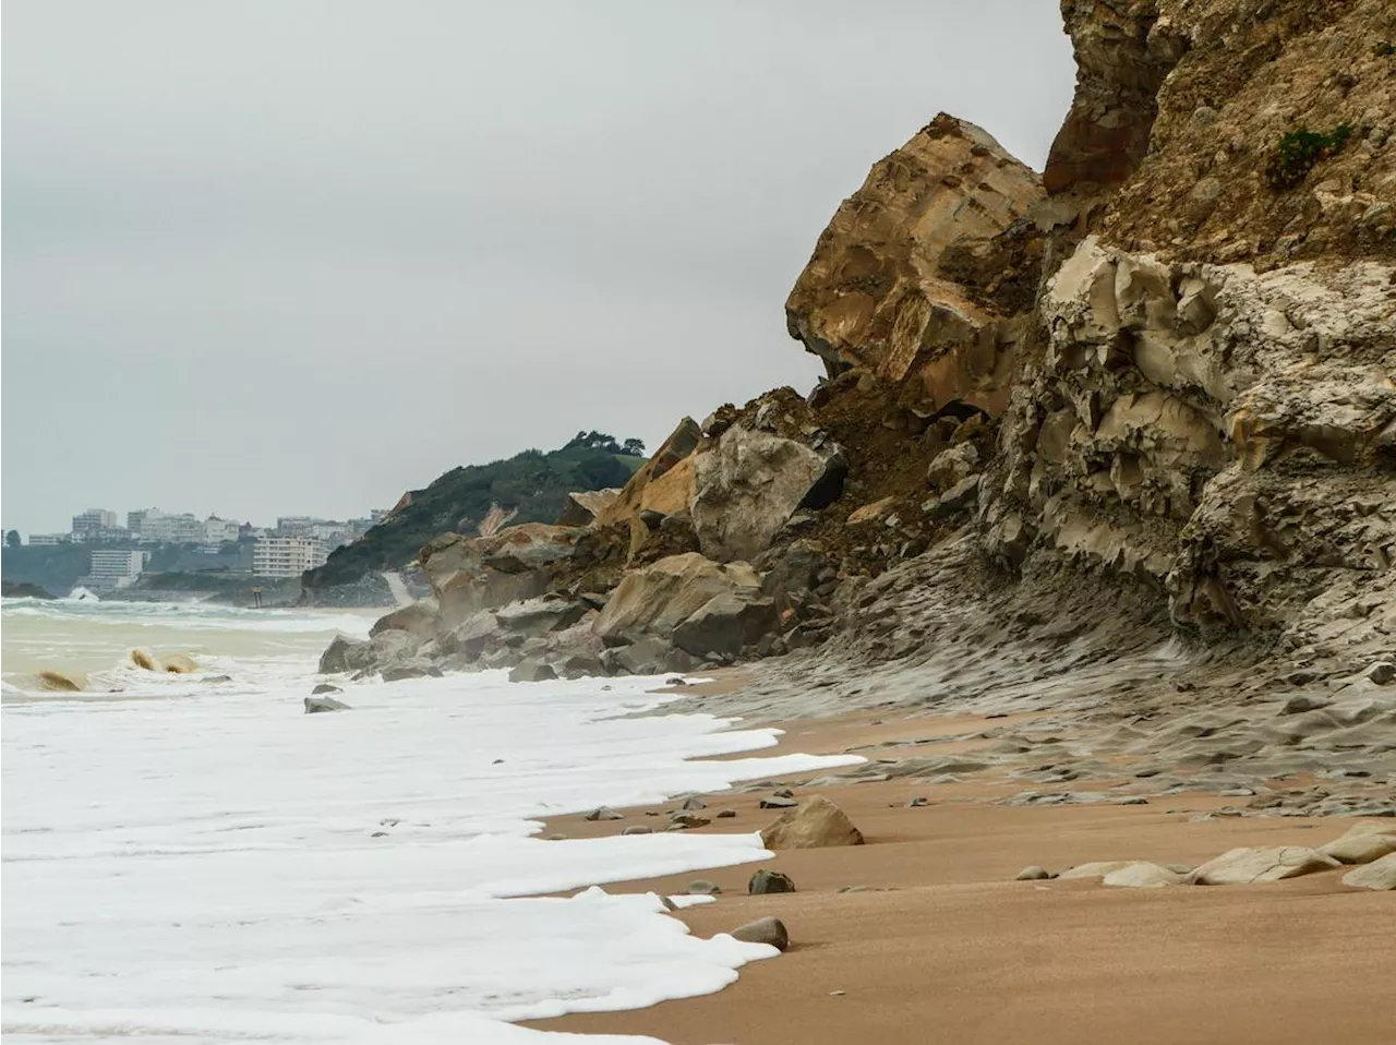
{"label": "pale grey upright boulder with black-shadowed right side, mid rubble slope", "polygon": [[833,443],[805,443],[733,425],[694,458],[692,521],[702,553],[750,560],[803,507],[822,509],[843,492],[847,461]]}

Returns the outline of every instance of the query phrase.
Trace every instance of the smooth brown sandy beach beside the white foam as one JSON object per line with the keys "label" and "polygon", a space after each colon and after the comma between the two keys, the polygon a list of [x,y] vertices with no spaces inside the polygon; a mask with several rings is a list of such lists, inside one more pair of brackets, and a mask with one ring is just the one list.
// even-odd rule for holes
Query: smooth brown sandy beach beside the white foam
{"label": "smooth brown sandy beach beside the white foam", "polygon": [[[859,714],[786,724],[780,749],[867,752],[1012,721]],[[1396,908],[1388,894],[1342,886],[1343,870],[1227,887],[1013,880],[1029,865],[1195,866],[1241,845],[1316,847],[1343,834],[1350,819],[1217,816],[1228,799],[1201,792],[1146,805],[1002,806],[994,802],[1020,784],[993,780],[769,784],[706,796],[704,816],[730,809],[736,817],[695,830],[759,830],[776,816],[758,808],[761,798],[789,785],[797,798],[836,802],[867,844],[785,851],[712,872],[702,877],[722,889],[716,902],[676,916],[709,936],[775,915],[790,930],[790,950],[745,967],[740,982],[716,995],[533,1025],[674,1045],[1392,1039],[1396,1000],[1371,958],[1396,930]],[[927,805],[909,808],[916,798]],[[662,828],[677,805],[623,810],[625,819],[610,823],[561,817],[544,834]],[[748,897],[758,866],[785,872],[799,891]],[[677,894],[694,877],[607,890]]]}

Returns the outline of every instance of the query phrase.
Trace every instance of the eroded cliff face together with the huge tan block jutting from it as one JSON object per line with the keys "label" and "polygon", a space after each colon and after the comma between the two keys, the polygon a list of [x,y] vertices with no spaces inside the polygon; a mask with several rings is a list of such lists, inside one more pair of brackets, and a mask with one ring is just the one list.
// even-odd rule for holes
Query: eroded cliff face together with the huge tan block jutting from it
{"label": "eroded cliff face together with the huge tan block jutting from it", "polygon": [[[1208,640],[1322,644],[1372,618],[1353,592],[1396,557],[1396,7],[1062,15],[1078,87],[1044,193],[1022,176],[997,222],[919,235],[912,215],[970,210],[935,175],[962,162],[946,129],[981,131],[938,117],[839,208],[792,334],[998,421],[977,534],[1018,583],[1089,576]],[[1015,235],[1037,239],[1013,256]]]}

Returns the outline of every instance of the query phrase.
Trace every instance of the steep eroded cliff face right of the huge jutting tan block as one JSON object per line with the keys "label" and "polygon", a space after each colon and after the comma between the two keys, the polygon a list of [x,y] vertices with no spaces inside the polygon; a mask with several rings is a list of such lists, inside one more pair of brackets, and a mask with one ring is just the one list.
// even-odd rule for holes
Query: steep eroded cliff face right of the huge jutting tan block
{"label": "steep eroded cliff face right of the huge jutting tan block", "polygon": [[[1205,637],[1312,645],[1335,592],[1378,585],[1396,553],[1396,8],[1064,14],[1082,73],[1053,163],[1106,141],[1082,137],[1082,113],[1148,123],[1148,149],[1115,142],[1086,179],[1076,232],[1096,235],[1043,272],[984,546],[1027,573],[1141,580]],[[1339,127],[1311,169],[1277,177],[1284,136]],[[1048,187],[1079,193],[1082,163],[1050,168]]]}

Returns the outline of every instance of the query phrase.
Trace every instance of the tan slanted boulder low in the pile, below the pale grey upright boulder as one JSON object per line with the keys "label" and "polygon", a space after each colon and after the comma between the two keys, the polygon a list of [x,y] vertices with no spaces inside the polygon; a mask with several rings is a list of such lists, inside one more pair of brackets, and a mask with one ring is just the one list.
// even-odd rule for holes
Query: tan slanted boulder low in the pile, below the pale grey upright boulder
{"label": "tan slanted boulder low in the pile, below the pale grey upright boulder", "polygon": [[719,595],[761,597],[761,574],[747,563],[718,564],[697,552],[631,570],[592,626],[607,645],[646,636],[666,640]]}

